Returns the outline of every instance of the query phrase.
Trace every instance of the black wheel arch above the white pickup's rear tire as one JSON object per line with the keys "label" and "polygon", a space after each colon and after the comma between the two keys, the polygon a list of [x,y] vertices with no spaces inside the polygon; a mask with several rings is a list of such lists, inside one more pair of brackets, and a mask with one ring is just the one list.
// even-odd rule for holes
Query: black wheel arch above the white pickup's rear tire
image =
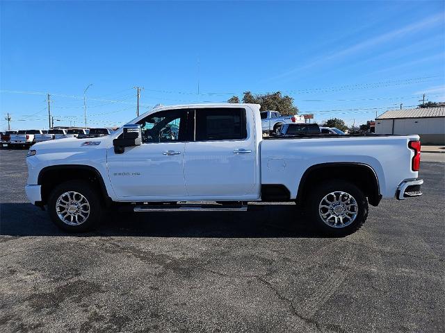
{"label": "black wheel arch above the white pickup's rear tire", "polygon": [[355,183],[364,191],[369,203],[377,206],[382,195],[375,170],[364,163],[357,162],[329,162],[315,164],[303,173],[297,191],[297,202],[304,203],[306,194],[312,185],[319,184],[325,180],[340,179]]}

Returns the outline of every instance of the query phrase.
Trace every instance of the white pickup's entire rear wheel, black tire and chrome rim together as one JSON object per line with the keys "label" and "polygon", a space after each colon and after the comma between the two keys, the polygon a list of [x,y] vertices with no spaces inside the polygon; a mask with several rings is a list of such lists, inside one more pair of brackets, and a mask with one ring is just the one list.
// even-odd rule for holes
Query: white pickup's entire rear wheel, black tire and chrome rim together
{"label": "white pickup's entire rear wheel, black tire and chrome rim together", "polygon": [[368,217],[368,200],[353,183],[332,180],[309,195],[310,216],[325,234],[344,236],[357,231]]}

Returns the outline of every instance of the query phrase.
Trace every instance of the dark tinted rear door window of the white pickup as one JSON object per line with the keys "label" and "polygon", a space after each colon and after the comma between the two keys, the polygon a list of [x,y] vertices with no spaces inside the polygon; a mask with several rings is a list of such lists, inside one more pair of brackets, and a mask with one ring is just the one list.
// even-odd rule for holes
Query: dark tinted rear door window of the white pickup
{"label": "dark tinted rear door window of the white pickup", "polygon": [[197,109],[195,117],[196,141],[243,140],[248,137],[245,109]]}

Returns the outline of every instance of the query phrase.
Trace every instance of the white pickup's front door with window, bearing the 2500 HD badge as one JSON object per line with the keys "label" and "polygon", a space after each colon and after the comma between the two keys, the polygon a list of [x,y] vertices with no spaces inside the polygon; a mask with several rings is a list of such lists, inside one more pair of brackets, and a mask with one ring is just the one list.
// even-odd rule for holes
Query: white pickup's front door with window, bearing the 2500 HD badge
{"label": "white pickup's front door with window, bearing the 2500 HD badge", "polygon": [[142,144],[116,154],[108,148],[111,185],[122,200],[172,200],[186,195],[184,149],[187,109],[149,114],[139,121]]}

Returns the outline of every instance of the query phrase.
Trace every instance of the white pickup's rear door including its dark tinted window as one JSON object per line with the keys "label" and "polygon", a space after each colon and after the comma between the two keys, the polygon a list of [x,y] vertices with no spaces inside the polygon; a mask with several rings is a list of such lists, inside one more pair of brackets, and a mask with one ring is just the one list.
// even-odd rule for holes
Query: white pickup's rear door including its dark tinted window
{"label": "white pickup's rear door including its dark tinted window", "polygon": [[[250,108],[195,108],[194,140],[186,142],[188,196],[257,198],[257,144]],[[249,120],[249,121],[248,121]]]}

